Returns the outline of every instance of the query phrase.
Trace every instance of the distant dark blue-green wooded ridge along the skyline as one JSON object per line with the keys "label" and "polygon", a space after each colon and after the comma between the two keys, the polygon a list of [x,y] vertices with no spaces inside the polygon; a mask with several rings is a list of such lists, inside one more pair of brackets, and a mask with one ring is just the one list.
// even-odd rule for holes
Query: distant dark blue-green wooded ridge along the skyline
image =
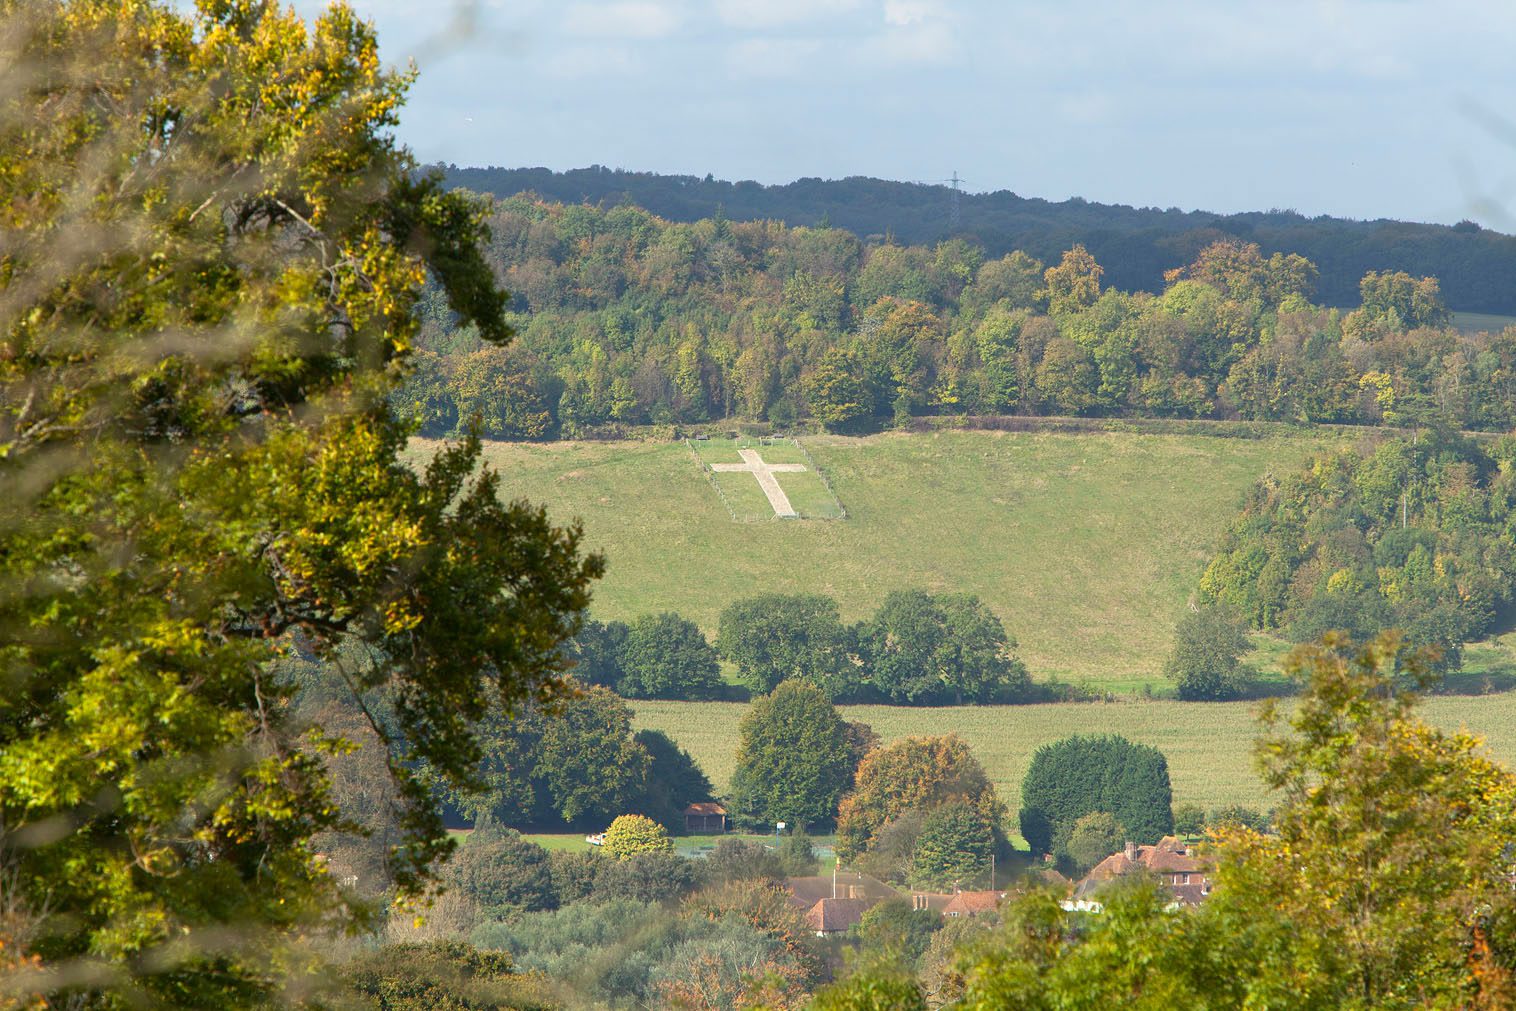
{"label": "distant dark blue-green wooded ridge along the skyline", "polygon": [[693,223],[725,214],[816,227],[831,223],[863,236],[932,246],[966,238],[991,258],[1013,250],[1054,262],[1082,243],[1105,265],[1107,282],[1123,291],[1164,288],[1164,271],[1181,267],[1217,239],[1257,243],[1264,253],[1299,253],[1322,271],[1319,299],[1351,306],[1358,279],[1373,271],[1442,277],[1451,305],[1469,312],[1516,312],[1510,277],[1516,238],[1472,221],[1455,226],[1407,221],[1352,221],[1293,211],[1217,215],[1178,208],[1129,208],[996,192],[954,192],[943,185],[884,179],[799,179],[764,186],[709,176],[659,176],[599,165],[564,173],[546,168],[462,168],[446,165],[449,185],[509,197],[535,192],[558,203],[635,205],[670,221]]}

